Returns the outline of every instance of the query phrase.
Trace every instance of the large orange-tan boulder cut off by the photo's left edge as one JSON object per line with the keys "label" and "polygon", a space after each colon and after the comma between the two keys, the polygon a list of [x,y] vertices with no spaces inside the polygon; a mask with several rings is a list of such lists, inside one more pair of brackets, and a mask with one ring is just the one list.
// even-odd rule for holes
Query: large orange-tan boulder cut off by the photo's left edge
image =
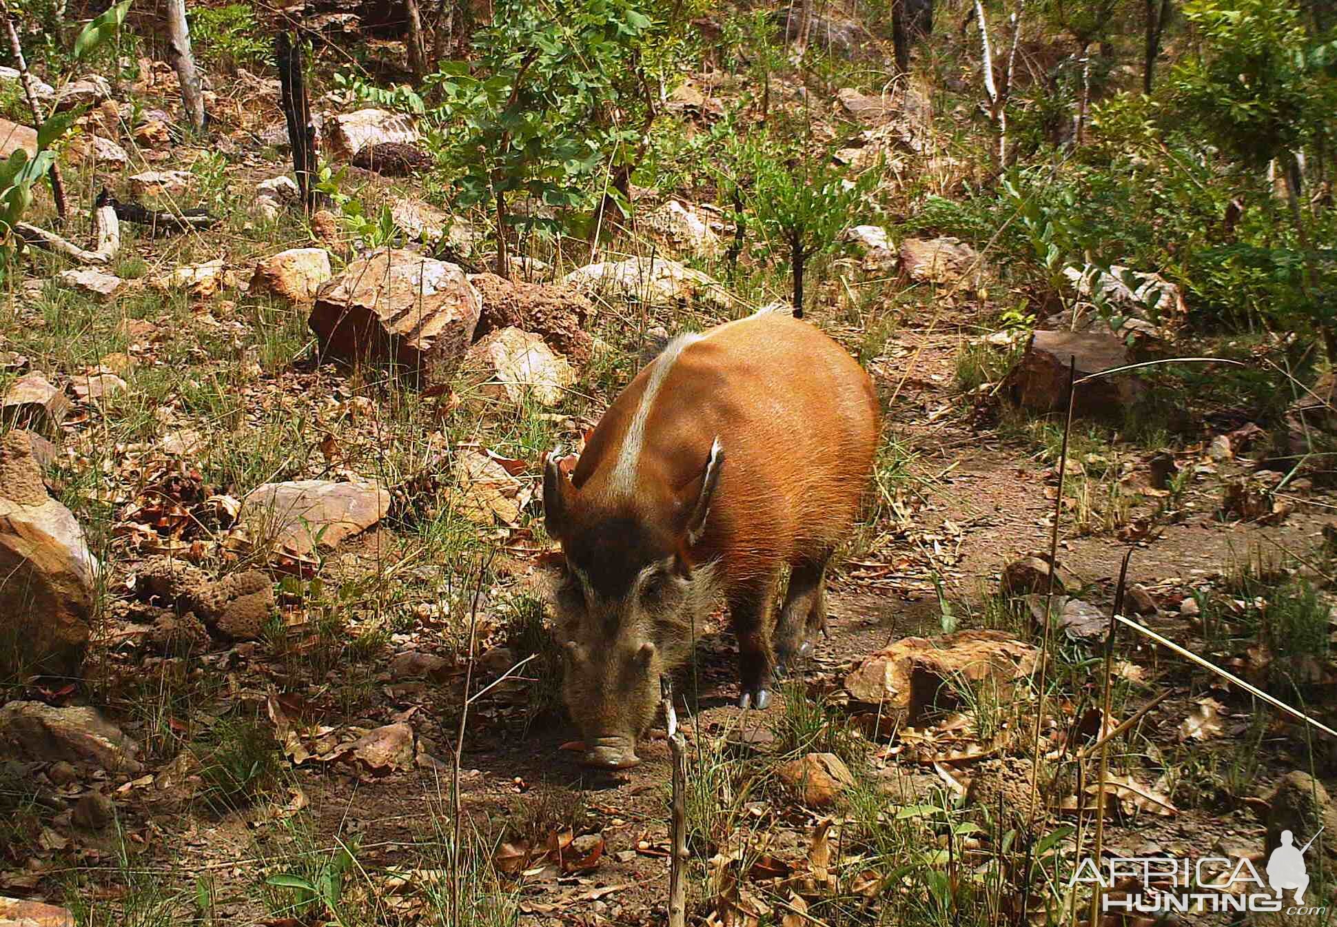
{"label": "large orange-tan boulder cut off by the photo's left edge", "polygon": [[0,678],[79,672],[96,573],[83,528],[47,495],[24,433],[0,437]]}

